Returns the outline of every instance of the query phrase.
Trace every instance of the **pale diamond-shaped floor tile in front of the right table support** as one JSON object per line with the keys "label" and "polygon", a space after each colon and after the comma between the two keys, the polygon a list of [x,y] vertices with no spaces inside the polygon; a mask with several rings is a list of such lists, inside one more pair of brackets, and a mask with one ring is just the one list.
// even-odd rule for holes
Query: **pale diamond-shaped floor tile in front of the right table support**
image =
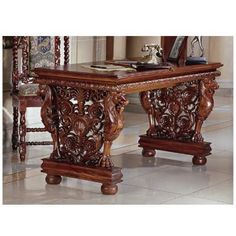
{"label": "pale diamond-shaped floor tile in front of the right table support", "polygon": [[126,184],[172,193],[189,194],[231,178],[229,174],[205,171],[202,167],[170,166],[140,178],[128,179]]}

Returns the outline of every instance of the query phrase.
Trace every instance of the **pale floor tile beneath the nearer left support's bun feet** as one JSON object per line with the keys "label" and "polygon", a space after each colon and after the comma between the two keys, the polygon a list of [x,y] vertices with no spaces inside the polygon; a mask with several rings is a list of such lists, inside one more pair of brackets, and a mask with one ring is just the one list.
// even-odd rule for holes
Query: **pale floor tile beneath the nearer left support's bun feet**
{"label": "pale floor tile beneath the nearer left support's bun feet", "polygon": [[48,185],[44,175],[4,185],[4,204],[159,204],[179,196],[165,191],[119,184],[114,196],[101,194],[99,183],[64,178]]}

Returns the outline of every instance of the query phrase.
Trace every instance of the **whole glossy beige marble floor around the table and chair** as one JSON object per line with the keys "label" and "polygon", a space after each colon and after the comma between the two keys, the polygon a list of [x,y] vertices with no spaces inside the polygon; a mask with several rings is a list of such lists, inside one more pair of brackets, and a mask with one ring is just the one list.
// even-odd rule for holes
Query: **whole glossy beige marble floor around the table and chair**
{"label": "whole glossy beige marble floor around the table and chair", "polygon": [[148,127],[147,117],[127,112],[125,121],[112,149],[113,162],[123,168],[124,175],[114,196],[102,195],[99,183],[72,178],[47,185],[40,164],[51,147],[29,147],[26,161],[21,163],[10,148],[10,131],[6,131],[3,204],[233,204],[232,97],[216,96],[203,127],[203,136],[212,142],[213,150],[202,167],[193,166],[189,155],[170,152],[158,151],[155,158],[143,158],[137,140]]}

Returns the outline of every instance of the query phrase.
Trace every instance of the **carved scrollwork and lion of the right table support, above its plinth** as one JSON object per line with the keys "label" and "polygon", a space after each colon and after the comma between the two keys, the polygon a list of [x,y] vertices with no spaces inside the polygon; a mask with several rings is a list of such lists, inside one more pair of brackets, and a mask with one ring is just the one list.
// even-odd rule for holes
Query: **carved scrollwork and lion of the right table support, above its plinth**
{"label": "carved scrollwork and lion of the right table support, above its plinth", "polygon": [[201,127],[214,106],[218,85],[213,78],[140,93],[148,114],[148,136],[203,142]]}

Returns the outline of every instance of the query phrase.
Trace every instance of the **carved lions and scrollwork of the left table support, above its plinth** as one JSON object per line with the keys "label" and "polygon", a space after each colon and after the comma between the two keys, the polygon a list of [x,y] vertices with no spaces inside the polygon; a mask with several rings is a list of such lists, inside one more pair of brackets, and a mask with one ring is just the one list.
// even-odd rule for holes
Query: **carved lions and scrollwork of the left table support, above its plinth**
{"label": "carved lions and scrollwork of the left table support, above its plinth", "polygon": [[[53,136],[57,161],[110,168],[110,148],[123,128],[122,94],[53,86],[46,88],[42,121]],[[103,151],[102,151],[103,147]]]}

